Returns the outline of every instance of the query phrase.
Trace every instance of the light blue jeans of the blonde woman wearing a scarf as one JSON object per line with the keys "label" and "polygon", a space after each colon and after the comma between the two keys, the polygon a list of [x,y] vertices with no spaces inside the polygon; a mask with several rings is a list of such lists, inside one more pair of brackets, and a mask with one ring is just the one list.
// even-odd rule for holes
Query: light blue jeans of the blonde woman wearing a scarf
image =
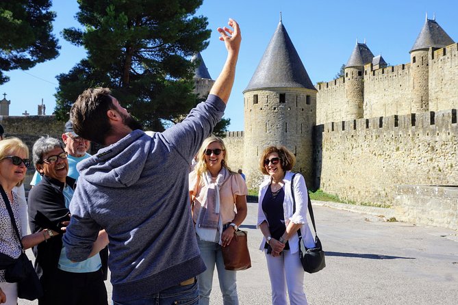
{"label": "light blue jeans of the blonde woman wearing a scarf", "polygon": [[225,263],[222,261],[221,246],[219,243],[201,241],[199,236],[197,236],[197,243],[201,250],[201,256],[205,266],[207,266],[207,270],[205,270],[203,274],[197,276],[197,282],[199,282],[199,295],[201,297],[201,302],[199,304],[209,304],[213,284],[213,271],[216,265],[222,293],[222,303],[224,305],[238,305],[236,271],[225,269]]}

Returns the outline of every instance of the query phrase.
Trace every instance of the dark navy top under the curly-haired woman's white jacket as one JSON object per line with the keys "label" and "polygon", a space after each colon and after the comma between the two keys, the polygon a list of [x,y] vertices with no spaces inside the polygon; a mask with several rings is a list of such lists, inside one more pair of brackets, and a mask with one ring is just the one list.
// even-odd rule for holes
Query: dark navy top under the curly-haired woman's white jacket
{"label": "dark navy top under the curly-haired woman's white jacket", "polygon": [[[264,199],[262,200],[262,210],[264,211],[264,214],[266,214],[270,235],[272,238],[279,240],[286,230],[285,219],[283,217],[283,200],[285,199],[285,190],[282,187],[275,193],[272,193],[271,187],[272,186],[270,185],[266,191],[266,195],[264,195]],[[264,248],[268,248],[268,243],[264,245]],[[290,244],[288,241],[285,244],[284,250],[290,250]]]}

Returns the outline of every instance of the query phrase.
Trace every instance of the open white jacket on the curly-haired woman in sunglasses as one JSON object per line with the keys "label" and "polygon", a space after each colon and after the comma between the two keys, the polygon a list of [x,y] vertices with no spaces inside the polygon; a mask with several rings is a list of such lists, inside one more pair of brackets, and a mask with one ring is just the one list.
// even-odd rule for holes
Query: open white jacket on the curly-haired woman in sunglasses
{"label": "open white jacket on the curly-haired woman in sunglasses", "polygon": [[[301,174],[296,174],[294,177],[294,199],[296,200],[296,212],[292,213],[293,201],[291,195],[291,178],[294,174],[290,171],[286,172],[285,178],[283,178],[283,183],[285,184],[285,200],[283,200],[283,217],[285,220],[285,226],[288,226],[290,222],[294,224],[302,224],[301,226],[301,235],[305,247],[312,248],[315,246],[314,236],[311,234],[309,224],[307,222],[307,205],[308,205],[308,196],[307,186],[305,186],[305,179]],[[259,186],[259,196],[257,202],[257,227],[262,222],[267,222],[266,214],[262,210],[262,200],[264,200],[264,195],[269,188],[271,183],[270,176],[266,176],[264,182]],[[266,244],[266,238],[262,238],[261,245],[259,245],[259,250],[264,250],[264,245]],[[292,235],[289,240],[291,253],[296,253],[299,251],[299,238],[297,233]]]}

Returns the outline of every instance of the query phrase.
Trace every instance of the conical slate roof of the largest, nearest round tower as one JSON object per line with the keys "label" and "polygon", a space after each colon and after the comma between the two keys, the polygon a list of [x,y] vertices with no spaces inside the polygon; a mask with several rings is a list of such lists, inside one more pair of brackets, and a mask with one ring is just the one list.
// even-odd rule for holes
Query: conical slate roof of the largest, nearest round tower
{"label": "conical slate roof of the largest, nearest round tower", "polygon": [[268,87],[315,90],[281,20],[245,91]]}

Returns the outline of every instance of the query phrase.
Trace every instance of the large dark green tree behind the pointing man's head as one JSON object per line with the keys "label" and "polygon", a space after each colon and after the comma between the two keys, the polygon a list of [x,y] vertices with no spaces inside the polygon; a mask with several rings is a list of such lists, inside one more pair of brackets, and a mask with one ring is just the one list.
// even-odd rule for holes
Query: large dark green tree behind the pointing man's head
{"label": "large dark green tree behind the pointing man's head", "polygon": [[207,18],[194,16],[202,0],[79,0],[81,29],[64,38],[88,57],[58,76],[55,112],[68,118],[85,88],[102,86],[146,129],[162,131],[196,105],[190,57],[207,47]]}

